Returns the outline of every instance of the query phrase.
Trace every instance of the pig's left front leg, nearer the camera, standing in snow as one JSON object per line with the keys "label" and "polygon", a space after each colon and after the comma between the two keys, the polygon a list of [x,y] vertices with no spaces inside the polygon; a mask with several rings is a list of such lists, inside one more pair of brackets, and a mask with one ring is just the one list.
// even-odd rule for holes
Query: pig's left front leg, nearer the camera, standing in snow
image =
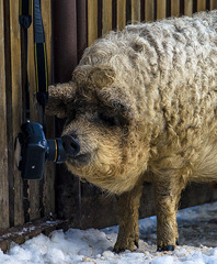
{"label": "pig's left front leg, nearer the camera, standing in snow", "polygon": [[132,191],[124,193],[119,197],[119,232],[114,246],[115,252],[121,252],[124,250],[133,251],[135,245],[138,248],[138,208],[141,193],[142,183],[138,184]]}

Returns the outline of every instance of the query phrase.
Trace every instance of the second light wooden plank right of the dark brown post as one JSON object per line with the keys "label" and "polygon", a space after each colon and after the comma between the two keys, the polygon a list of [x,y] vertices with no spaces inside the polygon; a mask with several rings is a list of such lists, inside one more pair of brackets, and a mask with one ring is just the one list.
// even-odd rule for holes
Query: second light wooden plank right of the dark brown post
{"label": "second light wooden plank right of the dark brown post", "polygon": [[102,0],[102,35],[112,30],[112,0]]}

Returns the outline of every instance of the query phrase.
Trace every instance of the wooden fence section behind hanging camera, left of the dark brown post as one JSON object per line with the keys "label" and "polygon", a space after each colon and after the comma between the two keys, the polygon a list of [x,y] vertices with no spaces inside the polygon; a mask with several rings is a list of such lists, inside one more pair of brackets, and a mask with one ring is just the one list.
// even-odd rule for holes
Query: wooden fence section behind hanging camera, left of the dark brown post
{"label": "wooden fence section behind hanging camera, left of the dark brown post", "polygon": [[[47,44],[47,62],[52,69],[52,7],[42,1]],[[1,101],[1,166],[0,166],[0,228],[5,229],[55,212],[54,166],[46,166],[42,183],[23,182],[14,160],[14,142],[24,120],[24,56],[23,32],[19,24],[19,1],[0,1],[0,101]],[[33,26],[28,30],[28,78],[31,89],[31,121],[37,122],[35,108],[35,69]],[[49,70],[49,76],[50,75]],[[53,121],[48,120],[52,131]],[[54,133],[53,133],[54,134]]]}

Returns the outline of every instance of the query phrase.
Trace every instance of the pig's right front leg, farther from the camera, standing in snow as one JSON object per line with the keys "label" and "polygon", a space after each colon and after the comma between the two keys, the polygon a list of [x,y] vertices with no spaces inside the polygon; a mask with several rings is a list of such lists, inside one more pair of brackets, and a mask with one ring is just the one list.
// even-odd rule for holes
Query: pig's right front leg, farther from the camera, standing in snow
{"label": "pig's right front leg, farther from the camera, standing in snow", "polygon": [[169,176],[158,177],[153,183],[158,251],[173,251],[175,248],[179,239],[176,212],[184,187],[182,178]]}

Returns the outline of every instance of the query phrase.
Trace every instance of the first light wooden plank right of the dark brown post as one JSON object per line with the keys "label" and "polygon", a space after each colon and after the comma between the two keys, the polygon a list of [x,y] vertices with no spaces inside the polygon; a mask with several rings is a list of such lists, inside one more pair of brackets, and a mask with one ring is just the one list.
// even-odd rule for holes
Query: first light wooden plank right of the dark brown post
{"label": "first light wooden plank right of the dark brown post", "polygon": [[98,0],[88,0],[88,45],[98,38]]}

